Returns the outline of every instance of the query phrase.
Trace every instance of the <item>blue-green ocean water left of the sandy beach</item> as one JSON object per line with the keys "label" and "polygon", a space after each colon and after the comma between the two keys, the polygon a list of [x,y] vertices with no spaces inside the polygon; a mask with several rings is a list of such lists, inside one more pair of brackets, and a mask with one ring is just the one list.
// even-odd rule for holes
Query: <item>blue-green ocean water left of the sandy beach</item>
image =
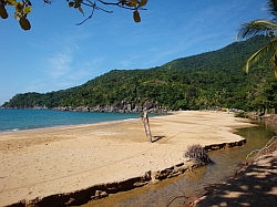
{"label": "blue-green ocean water left of the sandy beach", "polygon": [[91,113],[0,108],[0,133],[137,118],[138,113]]}

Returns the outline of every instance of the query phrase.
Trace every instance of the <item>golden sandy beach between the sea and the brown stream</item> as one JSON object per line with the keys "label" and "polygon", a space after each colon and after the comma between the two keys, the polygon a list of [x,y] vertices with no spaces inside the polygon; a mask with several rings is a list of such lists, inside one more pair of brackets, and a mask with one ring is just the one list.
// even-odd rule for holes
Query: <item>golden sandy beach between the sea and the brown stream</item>
{"label": "golden sandy beach between the sea and the brown stream", "polygon": [[126,180],[184,163],[187,146],[235,143],[253,126],[226,112],[176,112],[150,117],[0,134],[0,206]]}

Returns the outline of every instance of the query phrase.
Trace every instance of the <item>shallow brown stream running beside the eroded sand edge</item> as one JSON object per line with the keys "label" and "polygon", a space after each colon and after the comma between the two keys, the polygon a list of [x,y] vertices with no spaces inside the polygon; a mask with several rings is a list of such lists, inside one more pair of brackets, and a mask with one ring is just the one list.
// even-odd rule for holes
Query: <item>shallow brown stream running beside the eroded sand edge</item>
{"label": "shallow brown stream running beside the eroded sand edge", "polygon": [[260,123],[259,126],[240,128],[236,134],[245,137],[247,143],[243,147],[226,151],[211,152],[209,156],[215,164],[194,169],[178,177],[163,180],[125,193],[110,195],[107,198],[83,205],[83,207],[163,207],[171,203],[171,207],[184,206],[182,196],[199,196],[204,187],[220,183],[234,175],[237,164],[245,159],[255,148],[261,148],[273,137],[276,128]]}

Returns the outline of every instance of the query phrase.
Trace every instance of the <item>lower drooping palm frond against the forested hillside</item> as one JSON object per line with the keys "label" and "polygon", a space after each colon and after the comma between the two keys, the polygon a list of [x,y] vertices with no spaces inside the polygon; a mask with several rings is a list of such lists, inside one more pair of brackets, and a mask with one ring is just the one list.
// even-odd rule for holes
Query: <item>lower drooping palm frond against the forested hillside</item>
{"label": "lower drooping palm frond against the forested hillside", "polygon": [[[265,45],[264,48],[259,49],[257,52],[255,52],[246,62],[246,65],[244,66],[244,71],[246,73],[248,73],[249,71],[249,66],[252,64],[254,64],[256,61],[258,61],[259,59],[264,58],[267,53],[273,53],[274,55],[276,55],[277,53],[277,38],[274,38],[267,45]],[[277,61],[276,61],[277,63]],[[275,66],[275,64],[274,64]]]}

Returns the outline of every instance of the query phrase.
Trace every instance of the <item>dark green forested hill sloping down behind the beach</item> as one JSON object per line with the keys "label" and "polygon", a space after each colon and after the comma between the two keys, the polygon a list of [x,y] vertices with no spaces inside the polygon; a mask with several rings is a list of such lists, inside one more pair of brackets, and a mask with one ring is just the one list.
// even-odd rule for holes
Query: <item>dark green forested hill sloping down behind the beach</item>
{"label": "dark green forested hill sloping down behind the beach", "polygon": [[[214,106],[275,112],[277,81],[269,58],[246,60],[270,41],[255,37],[220,50],[182,58],[144,70],[112,70],[80,86],[49,93],[14,95],[2,107],[70,107],[140,111],[147,108],[199,110]],[[115,110],[115,111],[116,111]]]}

